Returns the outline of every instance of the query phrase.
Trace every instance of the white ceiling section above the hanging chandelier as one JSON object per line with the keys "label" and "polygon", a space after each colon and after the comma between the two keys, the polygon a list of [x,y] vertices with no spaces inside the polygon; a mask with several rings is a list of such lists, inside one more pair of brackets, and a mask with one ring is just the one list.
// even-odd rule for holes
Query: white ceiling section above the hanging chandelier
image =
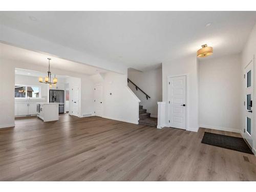
{"label": "white ceiling section above the hanging chandelier", "polygon": [[[1,58],[17,60],[22,63],[28,63],[33,65],[45,66],[46,73],[48,71],[48,59],[51,58],[50,67],[51,69],[60,69],[76,73],[82,73],[87,75],[94,75],[97,73],[105,73],[107,70],[83,65],[81,63],[61,59],[52,55],[43,53],[37,53],[34,51],[10,46],[7,44],[0,43]],[[52,71],[54,73],[54,71]],[[22,72],[20,72],[22,73]],[[31,73],[32,74],[32,73]],[[23,74],[20,74],[23,75]],[[38,75],[35,75],[38,76]]]}

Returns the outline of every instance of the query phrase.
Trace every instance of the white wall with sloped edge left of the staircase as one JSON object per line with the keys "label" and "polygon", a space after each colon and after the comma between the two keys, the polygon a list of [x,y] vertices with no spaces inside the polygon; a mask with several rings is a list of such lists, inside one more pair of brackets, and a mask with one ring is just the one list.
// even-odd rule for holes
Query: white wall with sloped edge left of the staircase
{"label": "white wall with sloped edge left of the staircase", "polygon": [[103,87],[102,117],[138,124],[140,100],[127,86],[127,75],[108,72],[91,78]]}

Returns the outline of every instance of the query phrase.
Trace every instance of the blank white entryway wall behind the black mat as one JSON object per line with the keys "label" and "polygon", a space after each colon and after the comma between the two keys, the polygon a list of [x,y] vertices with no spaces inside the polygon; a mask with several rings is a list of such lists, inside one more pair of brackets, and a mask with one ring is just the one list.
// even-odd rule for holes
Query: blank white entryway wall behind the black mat
{"label": "blank white entryway wall behind the black mat", "polygon": [[199,87],[200,127],[240,133],[241,55],[201,58]]}

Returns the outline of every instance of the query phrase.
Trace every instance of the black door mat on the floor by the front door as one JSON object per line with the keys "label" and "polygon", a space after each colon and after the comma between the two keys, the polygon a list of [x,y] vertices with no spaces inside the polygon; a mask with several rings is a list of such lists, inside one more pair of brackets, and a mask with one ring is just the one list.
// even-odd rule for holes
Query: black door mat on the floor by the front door
{"label": "black door mat on the floor by the front door", "polygon": [[244,139],[240,137],[232,137],[227,135],[204,132],[204,137],[201,143],[219,146],[222,148],[228,148],[229,150],[234,150],[253,155]]}

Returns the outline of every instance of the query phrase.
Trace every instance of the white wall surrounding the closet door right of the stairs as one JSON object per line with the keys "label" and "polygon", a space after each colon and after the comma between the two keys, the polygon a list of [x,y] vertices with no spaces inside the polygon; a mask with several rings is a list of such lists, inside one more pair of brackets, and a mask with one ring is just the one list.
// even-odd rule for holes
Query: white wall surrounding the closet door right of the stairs
{"label": "white wall surrounding the closet door right of the stairs", "polygon": [[163,101],[166,102],[165,123],[167,123],[167,77],[188,74],[187,86],[187,109],[188,121],[187,130],[197,131],[199,127],[198,118],[198,63],[196,56],[189,56],[181,59],[166,60],[162,62],[162,92]]}

